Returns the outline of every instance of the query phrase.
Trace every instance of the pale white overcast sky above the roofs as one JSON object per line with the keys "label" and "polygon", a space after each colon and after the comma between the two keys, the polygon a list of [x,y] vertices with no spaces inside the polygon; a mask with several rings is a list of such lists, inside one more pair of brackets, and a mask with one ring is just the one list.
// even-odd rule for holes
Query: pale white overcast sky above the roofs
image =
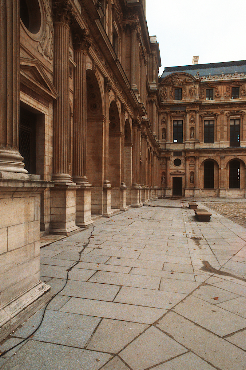
{"label": "pale white overcast sky above the roofs", "polygon": [[162,66],[246,59],[246,0],[146,0],[149,35]]}

